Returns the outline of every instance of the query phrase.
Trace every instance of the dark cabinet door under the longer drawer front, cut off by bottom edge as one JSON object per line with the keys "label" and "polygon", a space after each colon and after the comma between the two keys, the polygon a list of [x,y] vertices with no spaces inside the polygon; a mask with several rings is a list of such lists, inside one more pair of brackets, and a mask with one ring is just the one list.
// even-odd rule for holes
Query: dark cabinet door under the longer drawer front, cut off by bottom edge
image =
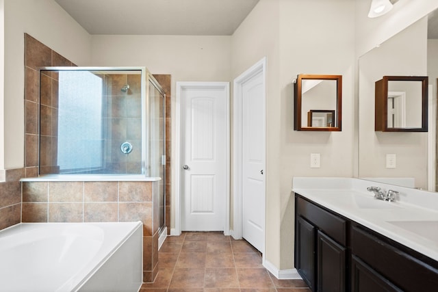
{"label": "dark cabinet door under the longer drawer front, cut off by bottom edge", "polygon": [[374,269],[363,263],[356,256],[352,256],[351,291],[352,292],[389,292],[402,291],[387,279],[383,278]]}

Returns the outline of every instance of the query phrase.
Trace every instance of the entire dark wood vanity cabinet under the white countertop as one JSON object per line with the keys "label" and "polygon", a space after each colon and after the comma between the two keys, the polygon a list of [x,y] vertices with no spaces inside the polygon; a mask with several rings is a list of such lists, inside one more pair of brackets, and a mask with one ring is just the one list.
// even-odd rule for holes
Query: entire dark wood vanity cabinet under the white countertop
{"label": "entire dark wood vanity cabinet under the white countertop", "polygon": [[295,194],[295,267],[311,291],[436,291],[438,261]]}

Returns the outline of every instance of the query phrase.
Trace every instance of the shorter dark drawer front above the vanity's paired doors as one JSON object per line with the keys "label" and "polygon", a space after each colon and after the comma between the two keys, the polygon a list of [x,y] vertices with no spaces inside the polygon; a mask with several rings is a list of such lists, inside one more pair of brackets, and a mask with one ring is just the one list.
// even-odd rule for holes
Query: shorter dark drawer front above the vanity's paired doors
{"label": "shorter dark drawer front above the vanity's paired doors", "polygon": [[296,212],[338,243],[346,245],[347,221],[296,194]]}

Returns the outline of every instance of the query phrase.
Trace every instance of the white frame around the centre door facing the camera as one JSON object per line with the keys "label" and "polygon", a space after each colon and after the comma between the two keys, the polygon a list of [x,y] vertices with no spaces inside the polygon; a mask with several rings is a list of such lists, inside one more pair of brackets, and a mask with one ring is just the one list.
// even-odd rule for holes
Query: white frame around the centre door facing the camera
{"label": "white frame around the centre door facing the camera", "polygon": [[[190,88],[204,88],[204,89],[222,89],[226,94],[225,108],[226,108],[226,139],[227,145],[230,145],[230,83],[229,82],[209,82],[209,81],[178,81],[177,82],[177,98],[176,98],[176,118],[175,122],[177,127],[175,129],[175,229],[170,230],[170,235],[181,235],[182,228],[182,202],[183,198],[183,184],[182,184],[182,165],[181,157],[181,127],[182,127],[182,115],[181,115],[181,95],[183,90]],[[225,194],[225,218],[224,218],[224,235],[230,234],[230,146],[226,149],[227,166],[226,166],[226,194]]]}

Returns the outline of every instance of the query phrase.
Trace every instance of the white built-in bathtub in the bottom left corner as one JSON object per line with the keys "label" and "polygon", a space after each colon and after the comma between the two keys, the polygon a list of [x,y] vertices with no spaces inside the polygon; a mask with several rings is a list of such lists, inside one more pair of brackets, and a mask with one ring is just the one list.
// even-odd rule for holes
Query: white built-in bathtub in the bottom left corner
{"label": "white built-in bathtub in the bottom left corner", "polygon": [[0,291],[139,291],[142,223],[22,223],[0,231]]}

